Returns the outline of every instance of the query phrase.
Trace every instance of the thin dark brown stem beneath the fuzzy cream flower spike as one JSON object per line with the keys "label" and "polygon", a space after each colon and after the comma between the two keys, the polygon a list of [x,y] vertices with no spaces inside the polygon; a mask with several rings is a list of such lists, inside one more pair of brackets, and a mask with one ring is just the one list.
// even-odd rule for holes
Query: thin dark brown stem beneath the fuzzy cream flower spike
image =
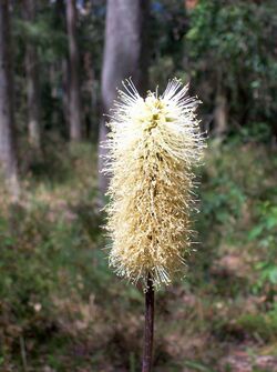
{"label": "thin dark brown stem beneath the fuzzy cream flower spike", "polygon": [[148,274],[147,292],[145,293],[145,324],[144,324],[142,372],[152,371],[153,334],[154,334],[154,288],[151,274]]}

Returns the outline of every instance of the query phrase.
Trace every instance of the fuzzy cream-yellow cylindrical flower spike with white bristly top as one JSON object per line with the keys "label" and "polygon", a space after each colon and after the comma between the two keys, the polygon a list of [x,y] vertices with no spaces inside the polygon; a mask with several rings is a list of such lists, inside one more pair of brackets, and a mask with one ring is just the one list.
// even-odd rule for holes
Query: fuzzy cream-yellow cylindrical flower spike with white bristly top
{"label": "fuzzy cream-yellow cylindrical flower spike with white bristly top", "polygon": [[105,143],[110,265],[145,289],[150,275],[158,288],[182,271],[189,252],[193,167],[204,148],[198,101],[177,79],[145,99],[131,80],[123,86]]}

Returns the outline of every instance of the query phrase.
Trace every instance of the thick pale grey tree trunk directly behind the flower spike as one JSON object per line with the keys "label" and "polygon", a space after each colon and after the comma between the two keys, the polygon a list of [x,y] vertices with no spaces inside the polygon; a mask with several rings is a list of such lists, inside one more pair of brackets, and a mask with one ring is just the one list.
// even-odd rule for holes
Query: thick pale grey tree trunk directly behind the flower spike
{"label": "thick pale grey tree trunk directly behind the flower spike", "polygon": [[[116,87],[132,77],[138,91],[144,93],[147,84],[147,22],[150,0],[107,0],[105,47],[102,70],[102,110],[109,113]],[[100,124],[100,144],[105,140],[105,121]],[[103,169],[104,149],[99,147],[99,170]],[[100,172],[99,187],[102,193],[107,188],[107,178]]]}

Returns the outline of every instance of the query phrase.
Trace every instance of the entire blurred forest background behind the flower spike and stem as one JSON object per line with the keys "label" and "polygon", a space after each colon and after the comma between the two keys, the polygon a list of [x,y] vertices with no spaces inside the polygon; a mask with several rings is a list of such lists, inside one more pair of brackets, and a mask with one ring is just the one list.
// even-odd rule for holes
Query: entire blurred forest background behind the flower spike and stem
{"label": "entire blurred forest background behind the flower spike and stem", "polygon": [[107,267],[116,87],[203,101],[197,252],[158,292],[154,371],[277,371],[276,0],[0,0],[0,371],[135,372],[144,298]]}

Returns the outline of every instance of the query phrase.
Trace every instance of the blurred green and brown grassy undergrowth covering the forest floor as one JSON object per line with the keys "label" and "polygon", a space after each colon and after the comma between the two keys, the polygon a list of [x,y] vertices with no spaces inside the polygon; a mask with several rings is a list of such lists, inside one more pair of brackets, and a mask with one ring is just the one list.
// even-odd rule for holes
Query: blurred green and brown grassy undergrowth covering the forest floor
{"label": "blurred green and brown grassy undergrowth covering the forest floor", "polygon": [[[276,163],[265,144],[211,142],[202,243],[156,299],[155,371],[276,368]],[[140,371],[143,294],[107,267],[95,147],[57,142],[28,169],[20,203],[0,197],[0,369]]]}

